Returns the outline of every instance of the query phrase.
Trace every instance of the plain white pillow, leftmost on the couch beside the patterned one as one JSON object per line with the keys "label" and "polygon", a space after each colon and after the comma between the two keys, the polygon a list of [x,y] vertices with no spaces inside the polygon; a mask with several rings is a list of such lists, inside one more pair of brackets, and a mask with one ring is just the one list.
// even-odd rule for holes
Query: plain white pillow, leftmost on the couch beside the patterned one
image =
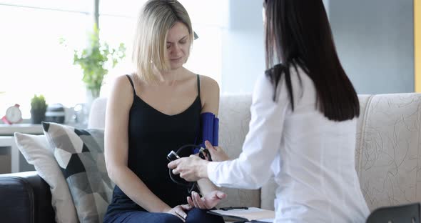
{"label": "plain white pillow, leftmost on the couch beside the patterned one", "polygon": [[78,222],[69,187],[54,159],[53,149],[44,135],[14,134],[16,145],[29,164],[33,164],[39,177],[50,186],[51,204],[56,212],[56,222]]}

